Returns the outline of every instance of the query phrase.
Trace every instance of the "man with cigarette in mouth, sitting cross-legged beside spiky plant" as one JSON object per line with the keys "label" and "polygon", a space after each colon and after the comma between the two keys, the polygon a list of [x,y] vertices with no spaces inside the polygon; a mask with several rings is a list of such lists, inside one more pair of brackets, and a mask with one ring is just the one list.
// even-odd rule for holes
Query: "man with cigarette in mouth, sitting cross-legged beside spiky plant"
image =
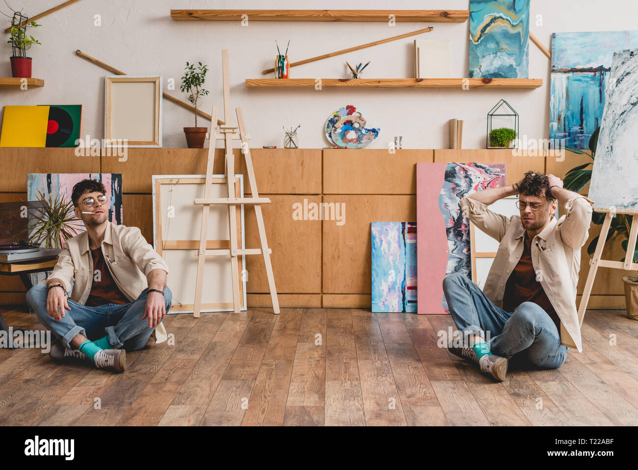
{"label": "man with cigarette in mouth, sitting cross-legged beside spiky plant", "polygon": [[125,351],[142,349],[152,333],[157,342],[166,340],[161,321],[171,305],[168,266],[140,229],[108,221],[102,183],[80,181],[71,200],[86,231],[64,243],[46,285],[29,289],[27,302],[59,338],[50,356],[122,372]]}

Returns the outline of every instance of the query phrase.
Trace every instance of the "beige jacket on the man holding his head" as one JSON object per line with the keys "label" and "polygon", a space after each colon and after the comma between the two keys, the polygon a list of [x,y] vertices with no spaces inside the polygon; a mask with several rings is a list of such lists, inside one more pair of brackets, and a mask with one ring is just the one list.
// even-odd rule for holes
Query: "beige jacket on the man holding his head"
{"label": "beige jacket on the man holding his head", "polygon": [[[487,275],[484,294],[494,304],[503,305],[505,284],[518,264],[524,248],[521,218],[505,216],[489,210],[486,204],[466,196],[461,210],[470,221],[487,235],[500,241],[496,257]],[[576,286],[581,266],[581,247],[588,239],[593,202],[584,197],[572,197],[565,203],[567,211],[551,222],[531,240],[531,263],[561,321],[561,344],[582,352],[581,324],[576,308]],[[537,248],[537,243],[543,251]]]}

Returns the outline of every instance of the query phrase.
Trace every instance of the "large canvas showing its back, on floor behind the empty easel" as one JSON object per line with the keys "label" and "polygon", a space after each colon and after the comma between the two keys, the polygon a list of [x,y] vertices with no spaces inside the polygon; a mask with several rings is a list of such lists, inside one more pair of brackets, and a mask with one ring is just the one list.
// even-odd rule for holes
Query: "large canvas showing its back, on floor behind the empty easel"
{"label": "large canvas showing its back, on floor behind the empty easel", "polygon": [[[212,175],[211,197],[228,197],[226,178]],[[204,175],[153,175],[153,243],[168,264],[168,282],[173,296],[171,313],[192,313],[195,305],[198,250],[202,229]],[[235,175],[235,196],[244,192],[242,175]],[[237,247],[244,248],[244,206],[237,213]],[[228,256],[207,256],[202,284],[202,312],[233,312],[233,286],[230,266],[228,206],[211,204],[207,250],[228,250]],[[246,310],[246,267],[239,256],[239,296]]]}

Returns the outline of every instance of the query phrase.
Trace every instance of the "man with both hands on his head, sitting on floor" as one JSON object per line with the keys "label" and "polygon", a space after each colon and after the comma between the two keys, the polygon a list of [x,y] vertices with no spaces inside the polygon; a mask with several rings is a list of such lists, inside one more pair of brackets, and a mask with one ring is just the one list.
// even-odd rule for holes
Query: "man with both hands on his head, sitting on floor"
{"label": "man with both hands on his head, sitting on floor", "polygon": [[[520,216],[487,208],[516,194]],[[565,207],[558,221],[556,199]],[[531,171],[514,185],[461,199],[463,213],[500,245],[482,291],[459,273],[443,280],[450,314],[463,333],[460,344],[450,342],[450,352],[502,381],[515,355],[537,368],[557,368],[569,347],[582,351],[576,285],[592,204],[556,176]]]}

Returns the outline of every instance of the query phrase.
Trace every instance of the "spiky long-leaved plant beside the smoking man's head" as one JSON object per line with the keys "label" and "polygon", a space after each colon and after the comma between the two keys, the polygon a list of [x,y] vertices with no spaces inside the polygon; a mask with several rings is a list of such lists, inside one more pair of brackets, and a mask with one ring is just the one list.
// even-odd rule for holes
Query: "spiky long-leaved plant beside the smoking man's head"
{"label": "spiky long-leaved plant beside the smoking man's head", "polygon": [[80,232],[80,227],[75,223],[80,222],[73,214],[73,202],[64,195],[50,195],[48,201],[38,191],[38,201],[47,203],[47,209],[42,218],[36,222],[29,241],[44,243],[49,248],[62,248],[64,241],[73,238]]}

